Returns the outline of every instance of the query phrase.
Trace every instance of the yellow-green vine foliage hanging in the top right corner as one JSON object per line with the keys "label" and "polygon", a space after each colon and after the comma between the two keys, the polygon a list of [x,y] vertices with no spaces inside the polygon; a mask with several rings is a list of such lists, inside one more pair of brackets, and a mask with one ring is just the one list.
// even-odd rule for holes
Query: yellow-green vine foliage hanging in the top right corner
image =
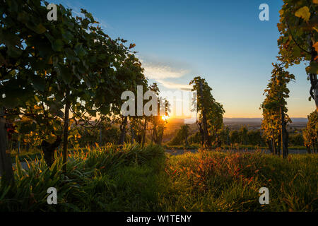
{"label": "yellow-green vine foliage hanging in the top right corner", "polygon": [[277,27],[281,36],[278,39],[279,60],[285,68],[301,61],[309,61],[306,71],[309,74],[310,95],[318,111],[318,27],[316,0],[283,0]]}

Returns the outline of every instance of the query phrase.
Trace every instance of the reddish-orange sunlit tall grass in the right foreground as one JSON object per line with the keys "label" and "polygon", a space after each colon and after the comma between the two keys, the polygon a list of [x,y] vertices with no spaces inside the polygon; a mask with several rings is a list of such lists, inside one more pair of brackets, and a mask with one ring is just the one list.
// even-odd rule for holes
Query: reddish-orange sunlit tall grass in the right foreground
{"label": "reddish-orange sunlit tall grass in the right foreground", "polygon": [[[288,160],[262,153],[187,153],[170,156],[165,211],[317,211],[317,155]],[[269,205],[259,189],[269,189]]]}

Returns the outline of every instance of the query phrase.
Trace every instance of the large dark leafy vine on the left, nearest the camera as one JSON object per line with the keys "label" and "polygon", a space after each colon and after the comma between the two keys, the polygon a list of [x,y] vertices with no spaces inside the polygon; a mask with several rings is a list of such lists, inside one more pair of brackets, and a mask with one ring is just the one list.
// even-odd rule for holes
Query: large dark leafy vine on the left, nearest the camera
{"label": "large dark leafy vine on the left, nearest the camera", "polygon": [[81,11],[84,18],[74,18],[70,9],[59,5],[59,18],[52,22],[47,20],[45,1],[0,4],[4,9],[0,21],[0,106],[5,108],[1,117],[16,121],[23,116],[35,121],[42,131],[42,144],[49,150],[47,155],[62,136],[65,171],[69,121],[82,124],[96,118],[98,112],[102,116],[116,112],[118,96],[134,83],[127,73],[119,73],[126,66],[123,62],[134,64],[129,50],[134,45],[125,47],[126,40],[112,40],[85,10]]}

